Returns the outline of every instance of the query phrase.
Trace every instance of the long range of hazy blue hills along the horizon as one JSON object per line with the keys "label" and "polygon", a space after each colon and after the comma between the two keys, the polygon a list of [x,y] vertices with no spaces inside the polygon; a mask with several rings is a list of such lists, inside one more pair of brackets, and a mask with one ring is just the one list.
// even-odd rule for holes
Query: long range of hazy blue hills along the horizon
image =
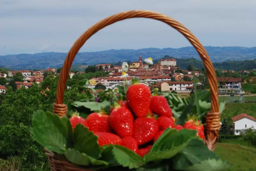
{"label": "long range of hazy blue hills along the horizon", "polygon": [[[228,60],[253,60],[256,58],[256,47],[212,47],[206,46],[206,51],[212,62],[224,62]],[[183,48],[147,48],[147,49],[120,49],[98,52],[80,52],[76,55],[74,65],[86,63],[95,65],[97,63],[117,63],[119,61],[137,61],[140,56],[153,59],[163,58],[164,55],[176,59],[195,58],[200,60],[194,47]],[[61,67],[67,53],[45,52],[36,54],[17,54],[0,56],[0,65],[12,69],[44,69],[49,67]]]}

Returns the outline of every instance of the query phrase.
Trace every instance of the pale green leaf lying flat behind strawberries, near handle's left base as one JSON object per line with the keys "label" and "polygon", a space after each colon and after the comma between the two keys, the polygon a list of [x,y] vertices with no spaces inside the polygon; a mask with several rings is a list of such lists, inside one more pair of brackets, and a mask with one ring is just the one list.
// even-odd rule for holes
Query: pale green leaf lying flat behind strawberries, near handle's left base
{"label": "pale green leaf lying flat behind strawberries, near handle's left base", "polygon": [[88,109],[91,109],[91,111],[100,111],[101,107],[105,108],[107,106],[110,106],[109,101],[103,101],[101,103],[98,102],[81,102],[81,101],[76,101],[75,103],[72,104],[75,107],[86,107]]}

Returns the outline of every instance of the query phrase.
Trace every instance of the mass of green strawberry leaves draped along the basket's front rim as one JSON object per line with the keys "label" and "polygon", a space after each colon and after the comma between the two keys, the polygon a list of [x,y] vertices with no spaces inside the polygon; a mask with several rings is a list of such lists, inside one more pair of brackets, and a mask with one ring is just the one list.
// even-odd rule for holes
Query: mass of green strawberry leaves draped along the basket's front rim
{"label": "mass of green strawberry leaves draped along the basket's front rim", "polygon": [[153,165],[159,171],[204,171],[205,167],[212,171],[224,171],[229,167],[196,137],[195,130],[167,128],[150,152],[141,158],[123,146],[100,147],[98,137],[83,125],[78,124],[73,132],[67,117],[60,118],[38,110],[33,115],[32,125],[31,133],[39,144],[62,154],[74,164],[95,169],[117,171],[128,167],[136,171],[148,170],[146,168]]}

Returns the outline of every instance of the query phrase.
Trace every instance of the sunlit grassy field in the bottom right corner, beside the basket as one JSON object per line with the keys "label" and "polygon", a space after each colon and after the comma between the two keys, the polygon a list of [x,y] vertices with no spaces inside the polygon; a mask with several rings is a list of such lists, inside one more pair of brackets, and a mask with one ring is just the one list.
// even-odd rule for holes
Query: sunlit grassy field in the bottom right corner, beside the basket
{"label": "sunlit grassy field in the bottom right corner, beside the basket", "polygon": [[233,165],[228,171],[256,171],[256,148],[217,143],[215,152]]}

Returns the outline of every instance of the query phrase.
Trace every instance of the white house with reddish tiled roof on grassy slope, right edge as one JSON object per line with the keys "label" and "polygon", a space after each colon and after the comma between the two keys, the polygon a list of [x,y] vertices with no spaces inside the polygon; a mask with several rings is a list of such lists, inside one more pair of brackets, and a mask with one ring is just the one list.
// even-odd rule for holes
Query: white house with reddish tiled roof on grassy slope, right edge
{"label": "white house with reddish tiled roof on grassy slope, right edge", "polygon": [[248,128],[256,128],[256,119],[245,113],[241,113],[231,118],[233,121],[234,135],[242,134],[242,131]]}

